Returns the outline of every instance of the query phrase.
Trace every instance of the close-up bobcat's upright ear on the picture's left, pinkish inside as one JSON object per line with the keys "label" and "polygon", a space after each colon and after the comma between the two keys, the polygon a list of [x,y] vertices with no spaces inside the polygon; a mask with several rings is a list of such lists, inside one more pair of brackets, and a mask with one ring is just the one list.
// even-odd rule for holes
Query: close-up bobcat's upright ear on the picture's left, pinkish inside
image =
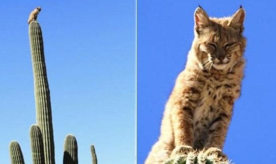
{"label": "close-up bobcat's upright ear on the picture's left, pinkish inside", "polygon": [[202,7],[198,7],[195,11],[194,11],[194,26],[196,31],[198,32],[198,30],[200,28],[204,28],[206,26],[208,26],[210,24],[210,19],[207,15],[207,13],[203,10]]}

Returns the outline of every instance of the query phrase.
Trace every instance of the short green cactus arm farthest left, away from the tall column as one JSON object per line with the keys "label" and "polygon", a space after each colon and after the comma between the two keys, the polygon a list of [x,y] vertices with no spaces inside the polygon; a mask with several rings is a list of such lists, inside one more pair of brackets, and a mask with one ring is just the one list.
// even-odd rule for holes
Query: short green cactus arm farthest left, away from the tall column
{"label": "short green cactus arm farthest left, away from the tall column", "polygon": [[16,141],[11,141],[9,145],[11,164],[24,164],[23,154],[20,145]]}

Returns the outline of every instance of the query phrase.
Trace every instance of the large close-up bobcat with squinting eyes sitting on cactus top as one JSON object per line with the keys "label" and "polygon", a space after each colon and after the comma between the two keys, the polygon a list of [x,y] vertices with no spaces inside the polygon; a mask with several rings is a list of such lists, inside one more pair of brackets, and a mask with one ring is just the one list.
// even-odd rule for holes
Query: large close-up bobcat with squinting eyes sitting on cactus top
{"label": "large close-up bobcat with squinting eyes sitting on cactus top", "polygon": [[242,7],[224,18],[208,17],[200,6],[195,10],[194,41],[146,164],[161,164],[196,149],[225,157],[221,149],[243,78],[244,17]]}

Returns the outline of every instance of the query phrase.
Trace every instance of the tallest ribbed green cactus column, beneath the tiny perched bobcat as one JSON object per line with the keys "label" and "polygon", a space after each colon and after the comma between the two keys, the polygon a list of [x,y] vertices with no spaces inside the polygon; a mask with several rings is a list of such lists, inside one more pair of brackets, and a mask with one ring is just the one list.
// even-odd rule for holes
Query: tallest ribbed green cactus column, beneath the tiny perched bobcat
{"label": "tallest ribbed green cactus column, beneath the tiny perched bobcat", "polygon": [[33,63],[36,120],[42,131],[45,163],[55,164],[50,90],[44,59],[42,31],[35,20],[29,24],[29,39]]}

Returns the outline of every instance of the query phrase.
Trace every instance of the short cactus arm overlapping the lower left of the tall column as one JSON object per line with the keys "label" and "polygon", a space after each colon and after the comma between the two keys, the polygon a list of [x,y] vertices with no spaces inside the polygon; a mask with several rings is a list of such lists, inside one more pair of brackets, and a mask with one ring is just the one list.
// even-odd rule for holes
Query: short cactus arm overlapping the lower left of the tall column
{"label": "short cactus arm overlapping the lower left of the tall column", "polygon": [[45,164],[42,133],[38,125],[30,127],[30,140],[33,164]]}

